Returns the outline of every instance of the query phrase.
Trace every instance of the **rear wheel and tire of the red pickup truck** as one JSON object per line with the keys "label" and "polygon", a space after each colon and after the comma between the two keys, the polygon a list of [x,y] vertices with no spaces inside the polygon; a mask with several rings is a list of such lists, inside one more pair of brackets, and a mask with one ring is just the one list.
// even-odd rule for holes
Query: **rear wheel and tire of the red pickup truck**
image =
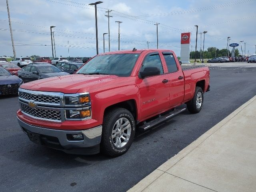
{"label": "rear wheel and tire of the red pickup truck", "polygon": [[[199,98],[198,98],[199,96]],[[201,98],[201,99],[200,99]],[[190,113],[199,113],[204,104],[204,93],[202,88],[196,87],[195,94],[189,102],[187,102],[187,109]]]}

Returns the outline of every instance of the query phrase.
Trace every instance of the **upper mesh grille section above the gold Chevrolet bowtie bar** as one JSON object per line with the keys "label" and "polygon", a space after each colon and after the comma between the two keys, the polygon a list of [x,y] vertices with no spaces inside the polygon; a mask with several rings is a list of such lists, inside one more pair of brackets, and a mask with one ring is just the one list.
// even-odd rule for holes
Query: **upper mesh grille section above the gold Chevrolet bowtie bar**
{"label": "upper mesh grille section above the gold Chevrolet bowtie bar", "polygon": [[26,100],[33,100],[42,103],[60,103],[60,97],[58,96],[48,96],[48,95],[39,95],[39,94],[30,94],[26,92],[20,92],[20,98]]}

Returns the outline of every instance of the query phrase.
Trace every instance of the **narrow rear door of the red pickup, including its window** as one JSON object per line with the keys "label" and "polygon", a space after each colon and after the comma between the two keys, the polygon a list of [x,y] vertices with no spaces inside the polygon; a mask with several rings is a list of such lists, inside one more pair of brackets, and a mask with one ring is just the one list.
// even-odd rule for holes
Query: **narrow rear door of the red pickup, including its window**
{"label": "narrow rear door of the red pickup, including its window", "polygon": [[184,98],[184,75],[179,70],[179,63],[176,62],[172,52],[162,52],[168,70],[170,86],[170,104],[169,107],[180,105]]}

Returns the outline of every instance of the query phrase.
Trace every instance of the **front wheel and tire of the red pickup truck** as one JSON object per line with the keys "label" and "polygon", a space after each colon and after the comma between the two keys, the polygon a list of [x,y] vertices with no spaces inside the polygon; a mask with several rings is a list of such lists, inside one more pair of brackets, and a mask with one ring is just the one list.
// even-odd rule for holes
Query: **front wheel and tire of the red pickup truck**
{"label": "front wheel and tire of the red pickup truck", "polygon": [[131,112],[124,108],[114,108],[103,119],[100,151],[111,157],[120,156],[132,145],[134,134],[135,122]]}

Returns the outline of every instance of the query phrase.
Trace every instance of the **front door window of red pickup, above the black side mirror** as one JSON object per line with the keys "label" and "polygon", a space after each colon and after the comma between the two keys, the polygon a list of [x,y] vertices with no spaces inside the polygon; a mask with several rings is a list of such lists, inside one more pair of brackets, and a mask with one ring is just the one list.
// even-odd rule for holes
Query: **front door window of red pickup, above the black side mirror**
{"label": "front door window of red pickup, above the black side mirror", "polygon": [[157,67],[160,70],[160,74],[164,74],[162,62],[159,54],[152,54],[145,58],[140,71],[144,71],[146,67]]}

